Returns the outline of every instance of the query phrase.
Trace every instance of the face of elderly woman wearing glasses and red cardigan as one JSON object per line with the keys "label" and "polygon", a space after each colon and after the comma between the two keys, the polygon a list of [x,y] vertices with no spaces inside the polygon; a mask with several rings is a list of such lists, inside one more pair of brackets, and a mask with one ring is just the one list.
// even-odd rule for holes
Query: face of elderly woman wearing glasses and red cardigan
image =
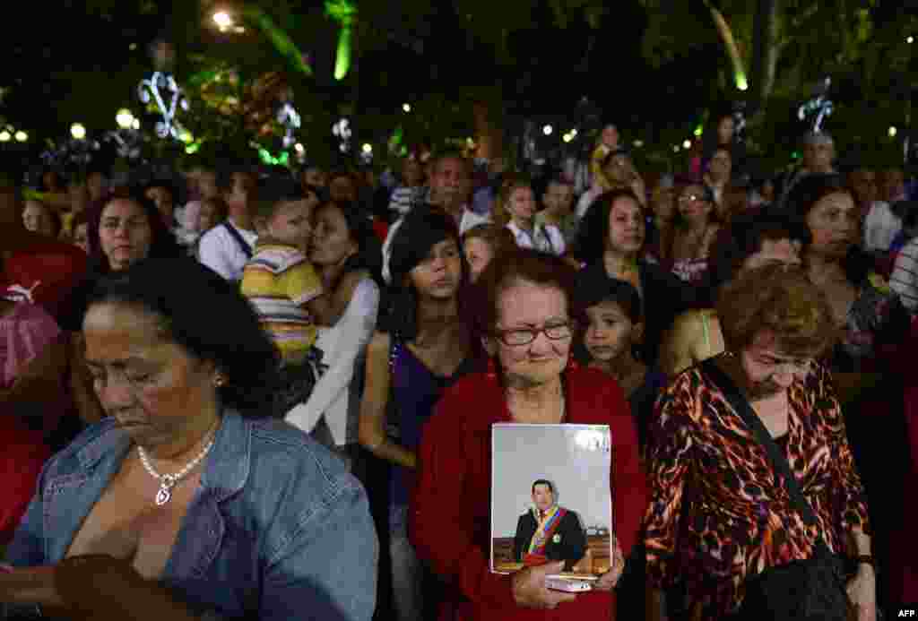
{"label": "face of elderly woman wearing glasses and red cardigan", "polygon": [[[549,338],[546,329],[567,336]],[[503,336],[489,338],[488,342],[497,350],[498,362],[509,383],[537,386],[557,379],[565,370],[572,329],[567,297],[560,289],[525,281],[504,289],[498,298],[496,330]],[[514,333],[528,330],[539,331],[530,343],[507,344]]]}

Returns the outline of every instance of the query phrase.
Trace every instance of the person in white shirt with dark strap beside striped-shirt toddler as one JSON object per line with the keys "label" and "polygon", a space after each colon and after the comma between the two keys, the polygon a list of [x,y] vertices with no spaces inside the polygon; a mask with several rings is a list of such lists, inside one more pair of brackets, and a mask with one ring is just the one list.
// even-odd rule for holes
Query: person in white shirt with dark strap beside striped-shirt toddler
{"label": "person in white shirt with dark strap beside striped-shirt toddler", "polygon": [[200,241],[200,261],[226,280],[239,283],[242,269],[252,257],[258,234],[252,229],[251,205],[256,179],[252,172],[221,171],[218,188],[227,204],[227,219],[211,228]]}

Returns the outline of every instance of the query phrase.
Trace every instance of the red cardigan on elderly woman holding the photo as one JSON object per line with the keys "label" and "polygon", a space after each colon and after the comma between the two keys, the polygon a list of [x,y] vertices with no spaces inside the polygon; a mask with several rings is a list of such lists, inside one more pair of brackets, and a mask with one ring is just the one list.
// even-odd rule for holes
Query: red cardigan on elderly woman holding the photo
{"label": "red cardigan on elderly woman holding the photo", "polygon": [[[565,371],[566,422],[609,425],[612,434],[614,532],[627,556],[647,505],[637,433],[621,387],[592,369]],[[614,593],[585,593],[554,611],[518,607],[510,577],[491,573],[491,425],[512,422],[495,373],[468,375],[447,390],[424,427],[411,542],[449,582],[455,618],[540,621],[611,618]]]}

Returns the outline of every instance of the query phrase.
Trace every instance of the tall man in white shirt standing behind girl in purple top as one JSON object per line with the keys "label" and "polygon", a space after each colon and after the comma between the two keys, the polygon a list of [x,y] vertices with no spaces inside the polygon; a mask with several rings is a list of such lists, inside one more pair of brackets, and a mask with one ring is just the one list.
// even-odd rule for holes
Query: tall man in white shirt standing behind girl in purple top
{"label": "tall man in white shirt standing behind girl in purple top", "polygon": [[[453,216],[459,233],[465,233],[469,228],[490,222],[490,215],[476,214],[469,208],[468,194],[471,190],[472,177],[469,162],[458,153],[448,153],[437,158],[431,166],[431,191],[429,205],[442,209]],[[412,207],[414,208],[414,207]],[[392,239],[404,216],[389,227],[386,234],[386,243],[383,244],[383,278],[390,283],[389,256]]]}

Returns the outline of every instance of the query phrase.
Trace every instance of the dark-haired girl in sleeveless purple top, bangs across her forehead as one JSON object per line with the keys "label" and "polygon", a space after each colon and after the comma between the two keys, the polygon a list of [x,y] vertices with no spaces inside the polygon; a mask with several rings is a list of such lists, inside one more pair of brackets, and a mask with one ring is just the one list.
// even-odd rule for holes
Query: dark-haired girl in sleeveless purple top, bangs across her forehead
{"label": "dark-haired girl in sleeveless purple top, bangs across her forehead", "polygon": [[392,464],[387,516],[380,520],[387,526],[379,528],[390,539],[392,573],[381,577],[392,581],[395,618],[408,620],[422,618],[422,593],[429,593],[408,540],[421,427],[444,389],[481,368],[481,356],[460,314],[467,268],[453,219],[409,212],[391,250],[388,313],[366,354],[360,443]]}

